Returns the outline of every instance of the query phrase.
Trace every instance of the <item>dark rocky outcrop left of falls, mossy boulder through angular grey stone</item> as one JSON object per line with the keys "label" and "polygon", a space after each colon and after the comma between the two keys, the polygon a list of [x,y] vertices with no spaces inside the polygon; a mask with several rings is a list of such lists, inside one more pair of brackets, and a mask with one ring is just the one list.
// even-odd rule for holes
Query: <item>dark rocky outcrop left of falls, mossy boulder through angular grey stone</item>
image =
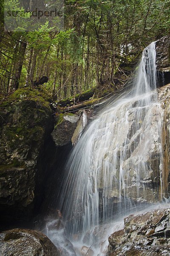
{"label": "dark rocky outcrop left of falls, mossy boulder through angular grey stone", "polygon": [[26,220],[50,200],[51,184],[59,186],[63,162],[85,128],[85,111],[59,114],[56,108],[54,114],[51,101],[43,87],[0,98],[0,219],[5,229],[11,212],[12,222]]}

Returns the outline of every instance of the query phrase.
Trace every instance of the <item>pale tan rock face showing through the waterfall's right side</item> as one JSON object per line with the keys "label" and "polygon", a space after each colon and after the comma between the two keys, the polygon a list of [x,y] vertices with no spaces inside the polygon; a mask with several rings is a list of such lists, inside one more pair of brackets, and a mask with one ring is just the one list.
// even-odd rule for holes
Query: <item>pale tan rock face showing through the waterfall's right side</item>
{"label": "pale tan rock face showing through the waterfall's right side", "polygon": [[[136,203],[157,202],[162,196],[168,198],[170,194],[170,84],[157,89],[159,102],[152,106],[152,110],[147,111],[146,116],[141,114],[139,130],[134,133],[134,121],[136,120],[135,111],[129,111],[128,143],[125,148],[125,161],[122,163],[124,175],[124,190],[122,195],[127,195]],[[134,107],[135,107],[134,102]],[[150,120],[149,129],[144,129],[142,123]],[[160,123],[158,123],[158,120]],[[161,134],[159,133],[159,125]],[[142,138],[151,138],[151,143],[144,148]],[[163,150],[161,150],[161,144]],[[146,154],[140,154],[141,151]],[[119,180],[119,159],[120,151],[117,152],[117,168],[115,177]],[[163,163],[161,157],[163,156]],[[142,157],[142,158],[141,158]],[[105,155],[109,162],[113,162],[112,152]],[[115,163],[115,162],[114,162]],[[114,164],[113,163],[113,164]],[[149,166],[149,168],[148,168]],[[161,176],[160,176],[160,169]],[[136,171],[138,168],[139,173]],[[147,170],[147,171],[146,171]],[[140,179],[139,179],[139,177]],[[102,189],[102,180],[101,187]],[[109,198],[115,203],[119,203],[119,183],[114,183],[113,189],[109,193]]]}

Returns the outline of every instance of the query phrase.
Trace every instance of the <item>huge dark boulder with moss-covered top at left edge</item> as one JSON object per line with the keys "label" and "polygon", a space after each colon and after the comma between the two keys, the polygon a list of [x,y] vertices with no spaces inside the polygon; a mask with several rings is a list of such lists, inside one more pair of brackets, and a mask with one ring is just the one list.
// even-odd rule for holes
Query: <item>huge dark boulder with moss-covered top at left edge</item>
{"label": "huge dark boulder with moss-covered top at left edge", "polygon": [[20,219],[40,201],[53,130],[50,96],[43,88],[23,88],[1,98],[0,107],[0,215]]}

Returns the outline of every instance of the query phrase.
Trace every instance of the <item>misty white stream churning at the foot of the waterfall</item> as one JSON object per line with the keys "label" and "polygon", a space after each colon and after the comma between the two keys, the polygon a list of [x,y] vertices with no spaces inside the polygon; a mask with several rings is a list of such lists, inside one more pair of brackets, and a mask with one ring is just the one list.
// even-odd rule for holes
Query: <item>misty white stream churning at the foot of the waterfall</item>
{"label": "misty white stream churning at the foot of the waterfall", "polygon": [[[106,256],[108,251],[108,238],[109,236],[124,228],[124,218],[130,214],[139,215],[144,212],[152,212],[154,209],[166,209],[170,208],[170,200],[164,203],[152,204],[150,206],[143,206],[142,209],[137,211],[136,209],[131,209],[128,213],[121,213],[121,217],[115,216],[115,219],[101,226],[96,226],[91,230],[88,230],[83,235],[75,236],[72,240],[69,240],[67,234],[65,233],[64,225],[62,227],[60,219],[53,219],[48,221],[44,233],[49,237],[49,239],[61,250],[62,256]],[[92,241],[95,244],[86,244],[85,239],[87,236],[93,236]],[[84,248],[84,254],[83,250]],[[89,253],[89,254],[88,254]]]}

